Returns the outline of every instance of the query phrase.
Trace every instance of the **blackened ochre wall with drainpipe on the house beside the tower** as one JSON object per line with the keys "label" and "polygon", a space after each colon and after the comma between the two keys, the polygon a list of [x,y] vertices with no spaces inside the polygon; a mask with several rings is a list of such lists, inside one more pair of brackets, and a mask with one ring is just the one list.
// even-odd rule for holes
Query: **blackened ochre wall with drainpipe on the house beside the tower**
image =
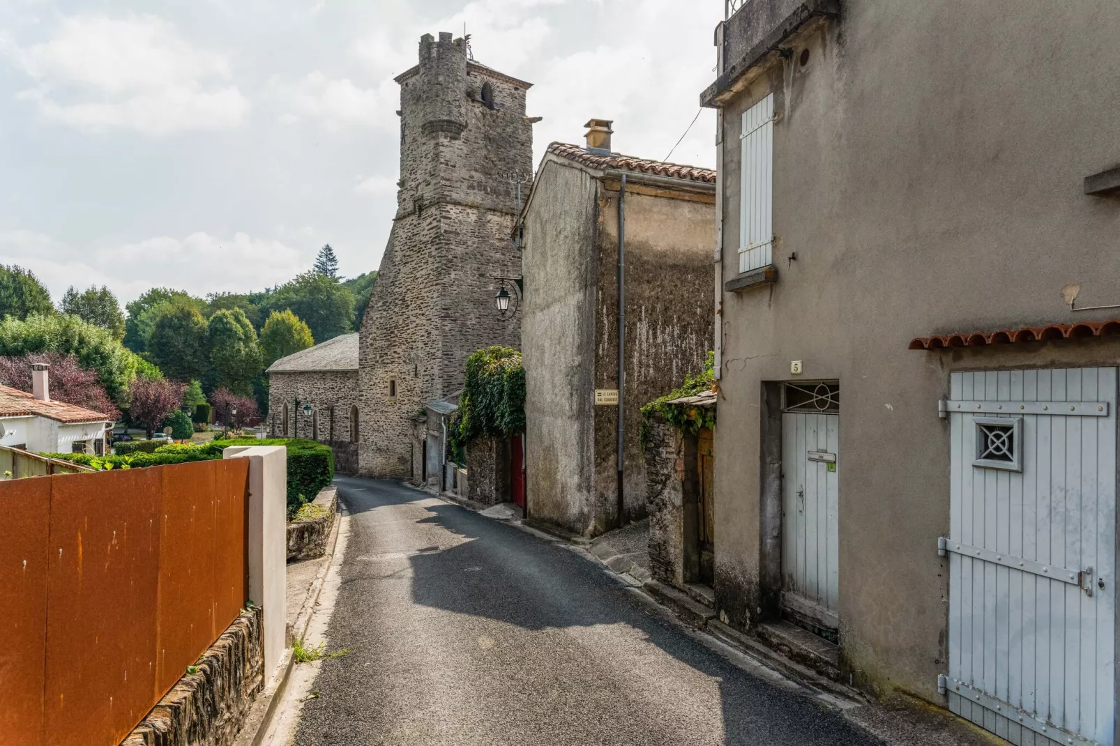
{"label": "blackened ochre wall with drainpipe on the house beside the tower", "polygon": [[[610,187],[600,186],[596,232],[596,389],[615,389],[618,380],[618,192]],[[641,409],[699,373],[712,346],[715,216],[709,194],[627,186],[623,496],[628,520],[646,512]],[[582,528],[592,534],[616,521],[617,427],[616,407],[595,408],[595,509]]]}

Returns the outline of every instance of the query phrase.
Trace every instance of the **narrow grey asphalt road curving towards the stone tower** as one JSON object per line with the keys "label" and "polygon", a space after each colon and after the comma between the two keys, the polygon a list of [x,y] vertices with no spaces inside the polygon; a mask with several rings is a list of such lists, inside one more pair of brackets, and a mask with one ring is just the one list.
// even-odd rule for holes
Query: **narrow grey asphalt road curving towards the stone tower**
{"label": "narrow grey asphalt road curving towards the stone tower", "polygon": [[755,678],[554,542],[346,478],[328,650],[299,746],[880,742]]}

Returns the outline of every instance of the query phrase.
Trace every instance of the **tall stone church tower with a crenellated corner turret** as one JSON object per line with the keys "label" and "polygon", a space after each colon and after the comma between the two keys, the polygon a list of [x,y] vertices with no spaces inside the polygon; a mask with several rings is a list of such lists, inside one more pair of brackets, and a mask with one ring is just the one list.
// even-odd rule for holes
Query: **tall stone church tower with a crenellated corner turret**
{"label": "tall stone church tower with a crenellated corner turret", "polygon": [[[532,183],[530,83],[469,58],[466,39],[420,39],[401,85],[396,216],[362,321],[358,470],[412,474],[412,418],[463,388],[467,356],[521,347],[498,315],[500,277],[521,276],[519,187]],[[508,283],[507,283],[508,285]]]}

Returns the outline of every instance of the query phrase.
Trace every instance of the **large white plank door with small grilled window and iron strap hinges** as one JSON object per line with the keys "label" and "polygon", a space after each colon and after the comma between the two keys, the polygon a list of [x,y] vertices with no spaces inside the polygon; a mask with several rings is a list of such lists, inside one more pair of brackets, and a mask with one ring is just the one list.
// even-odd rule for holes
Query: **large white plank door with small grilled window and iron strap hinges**
{"label": "large white plank door with small grilled window and iron strap hinges", "polygon": [[953,373],[950,709],[1113,745],[1117,369]]}

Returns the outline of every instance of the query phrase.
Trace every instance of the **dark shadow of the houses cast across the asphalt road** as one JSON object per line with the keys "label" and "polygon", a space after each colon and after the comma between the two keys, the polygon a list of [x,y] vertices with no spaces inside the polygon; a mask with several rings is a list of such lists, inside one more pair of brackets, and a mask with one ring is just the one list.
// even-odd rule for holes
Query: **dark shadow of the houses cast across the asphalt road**
{"label": "dark shadow of the houses cast across the asphalt road", "polygon": [[423,510],[418,524],[456,537],[446,542],[452,543],[449,548],[409,552],[416,604],[530,631],[627,625],[647,643],[719,682],[727,745],[880,743],[819,702],[735,666],[661,618],[601,566],[562,544],[459,505],[433,502],[431,495],[399,483],[347,478],[338,484],[351,513],[417,504]]}

